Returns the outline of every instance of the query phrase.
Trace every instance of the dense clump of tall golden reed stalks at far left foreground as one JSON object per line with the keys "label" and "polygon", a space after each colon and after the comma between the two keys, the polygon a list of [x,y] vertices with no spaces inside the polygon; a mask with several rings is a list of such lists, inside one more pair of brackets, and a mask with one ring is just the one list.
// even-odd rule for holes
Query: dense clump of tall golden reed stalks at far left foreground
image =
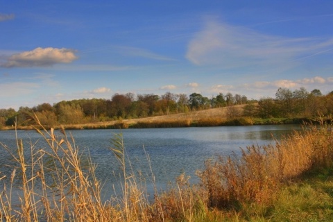
{"label": "dense clump of tall golden reed stalks at far left foreground", "polygon": [[[81,166],[82,157],[74,138],[69,140],[65,130],[62,130],[65,137],[60,139],[54,135],[53,129],[49,132],[39,126],[35,130],[42,135],[47,148],[35,150],[35,144],[31,144],[28,159],[22,140],[17,139],[17,154],[8,149],[19,164],[22,196],[19,196],[21,210],[11,208],[11,196],[0,197],[6,221],[15,218],[24,221],[110,221],[110,216],[117,215],[117,210],[101,201],[101,185],[94,175],[95,167],[91,162],[88,171]],[[45,160],[51,162],[45,164]],[[46,179],[46,173],[49,179]],[[41,191],[35,187],[41,187]]]}

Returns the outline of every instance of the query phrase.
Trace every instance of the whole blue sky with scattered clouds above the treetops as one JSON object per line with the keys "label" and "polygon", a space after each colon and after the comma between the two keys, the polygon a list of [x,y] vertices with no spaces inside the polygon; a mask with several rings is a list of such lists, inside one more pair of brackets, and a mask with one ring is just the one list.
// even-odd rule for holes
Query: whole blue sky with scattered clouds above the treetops
{"label": "whole blue sky with scattered clouds above the treetops", "polygon": [[0,108],[333,90],[333,1],[0,0]]}

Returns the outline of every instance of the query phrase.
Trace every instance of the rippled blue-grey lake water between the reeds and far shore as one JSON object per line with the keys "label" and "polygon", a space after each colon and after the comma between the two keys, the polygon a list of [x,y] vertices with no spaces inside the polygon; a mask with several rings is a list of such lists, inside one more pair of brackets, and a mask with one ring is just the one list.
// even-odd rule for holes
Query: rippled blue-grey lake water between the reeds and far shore
{"label": "rippled blue-grey lake water between the reeds and far shore", "polygon": [[[123,134],[123,142],[130,157],[133,171],[151,176],[147,155],[150,158],[151,169],[156,185],[165,189],[180,173],[191,176],[191,182],[198,182],[195,176],[197,169],[203,169],[204,161],[219,155],[239,153],[240,147],[246,148],[252,144],[264,145],[273,143],[273,137],[280,139],[282,135],[300,130],[296,125],[280,126],[228,126],[205,128],[154,128],[126,130],[67,130],[67,135],[73,135],[76,146],[84,153],[89,153],[92,161],[98,164],[96,175],[104,182],[106,195],[112,193],[112,186],[117,187],[119,164],[110,147],[114,133]],[[56,132],[56,135],[61,135]],[[24,139],[24,147],[35,144],[35,148],[46,145],[35,131],[18,131],[18,137]],[[15,150],[15,132],[0,131],[0,142]],[[7,151],[0,148],[0,171],[9,174],[12,169],[6,167],[11,157]],[[152,186],[146,180],[148,189]]]}

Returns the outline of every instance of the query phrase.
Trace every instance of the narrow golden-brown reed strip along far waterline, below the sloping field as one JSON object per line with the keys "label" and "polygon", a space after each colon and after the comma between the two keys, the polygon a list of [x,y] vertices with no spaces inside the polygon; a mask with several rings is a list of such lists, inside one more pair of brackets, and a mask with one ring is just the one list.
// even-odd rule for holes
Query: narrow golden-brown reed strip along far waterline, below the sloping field
{"label": "narrow golden-brown reed strip along far waterline, below the sloping field", "polygon": [[[124,128],[180,128],[180,127],[210,127],[210,126],[258,126],[258,125],[284,125],[284,124],[317,124],[329,122],[330,119],[308,117],[295,118],[251,118],[251,117],[191,117],[191,116],[158,116],[142,119],[119,119],[114,121],[101,121],[83,124],[61,124],[58,126],[44,126],[54,129],[83,130],[83,129],[124,129]],[[30,126],[4,126],[0,130],[34,130],[40,128],[38,124]]]}

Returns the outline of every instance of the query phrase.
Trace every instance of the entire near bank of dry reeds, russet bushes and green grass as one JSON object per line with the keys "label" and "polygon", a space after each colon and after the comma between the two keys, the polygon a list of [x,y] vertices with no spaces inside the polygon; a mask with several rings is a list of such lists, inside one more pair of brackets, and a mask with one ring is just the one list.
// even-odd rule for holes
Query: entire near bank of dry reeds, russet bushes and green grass
{"label": "entire near bank of dry reeds, russet bushes and green grass", "polygon": [[[15,149],[2,144],[15,160],[10,176],[0,174],[0,182],[6,182],[0,196],[3,221],[329,221],[333,218],[331,126],[307,126],[303,132],[295,132],[281,142],[248,146],[241,157],[207,161],[205,169],[198,171],[199,184],[189,184],[187,176],[182,174],[169,190],[156,193],[153,202],[148,200],[146,187],[126,162],[121,135],[115,135],[112,152],[123,169],[122,179],[119,178],[122,195],[103,202],[102,185],[94,174],[96,166],[91,163],[89,169],[83,169],[80,164],[83,155],[74,138],[65,130],[61,130],[62,135],[55,135],[53,129],[39,128],[36,130],[46,148],[37,150],[35,144],[23,147],[19,139]],[[154,181],[153,173],[147,180]],[[12,203],[12,186],[21,190],[19,206]]]}

